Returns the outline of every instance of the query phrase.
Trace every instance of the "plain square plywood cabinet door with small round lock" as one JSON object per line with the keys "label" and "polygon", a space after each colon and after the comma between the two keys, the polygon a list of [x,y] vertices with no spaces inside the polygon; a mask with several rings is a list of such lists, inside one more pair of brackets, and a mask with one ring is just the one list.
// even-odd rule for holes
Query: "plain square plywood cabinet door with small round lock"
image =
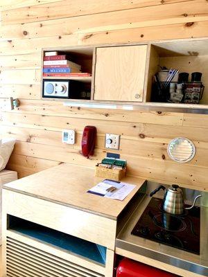
{"label": "plain square plywood cabinet door with small round lock", "polygon": [[94,100],[141,102],[147,46],[96,49]]}

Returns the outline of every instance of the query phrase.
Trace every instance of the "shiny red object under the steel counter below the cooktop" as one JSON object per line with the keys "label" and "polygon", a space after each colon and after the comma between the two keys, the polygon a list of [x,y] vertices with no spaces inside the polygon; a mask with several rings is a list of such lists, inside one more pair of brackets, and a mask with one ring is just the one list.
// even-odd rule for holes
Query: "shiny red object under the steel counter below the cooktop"
{"label": "shiny red object under the steel counter below the cooktop", "polygon": [[141,262],[123,258],[116,269],[116,277],[178,277],[167,271],[150,267]]}

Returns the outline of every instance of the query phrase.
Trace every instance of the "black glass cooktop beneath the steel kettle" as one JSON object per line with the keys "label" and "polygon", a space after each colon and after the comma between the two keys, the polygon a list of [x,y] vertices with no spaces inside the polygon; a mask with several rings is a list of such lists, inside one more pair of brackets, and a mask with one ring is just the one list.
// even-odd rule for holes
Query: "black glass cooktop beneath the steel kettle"
{"label": "black glass cooktop beneath the steel kettle", "polygon": [[200,207],[186,210],[183,215],[170,215],[162,211],[162,199],[154,197],[132,230],[132,235],[199,255]]}

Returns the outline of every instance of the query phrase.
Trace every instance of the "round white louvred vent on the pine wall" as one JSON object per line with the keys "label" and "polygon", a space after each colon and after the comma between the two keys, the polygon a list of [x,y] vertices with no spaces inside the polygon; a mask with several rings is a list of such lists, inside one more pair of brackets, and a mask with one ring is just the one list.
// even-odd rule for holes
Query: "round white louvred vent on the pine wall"
{"label": "round white louvred vent on the pine wall", "polygon": [[195,145],[189,139],[175,138],[168,144],[168,155],[177,163],[187,163],[195,154]]}

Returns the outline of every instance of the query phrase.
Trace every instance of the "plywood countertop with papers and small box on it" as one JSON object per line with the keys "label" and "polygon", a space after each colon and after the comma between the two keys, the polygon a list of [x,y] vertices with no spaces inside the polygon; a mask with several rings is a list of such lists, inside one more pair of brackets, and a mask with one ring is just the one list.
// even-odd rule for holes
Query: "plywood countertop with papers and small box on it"
{"label": "plywood countertop with papers and small box on it", "polygon": [[87,190],[102,179],[94,177],[94,168],[62,163],[59,166],[12,181],[3,188],[116,220],[123,208],[146,181],[135,177],[125,177],[122,181],[135,184],[137,187],[123,201],[119,201],[87,193]]}

